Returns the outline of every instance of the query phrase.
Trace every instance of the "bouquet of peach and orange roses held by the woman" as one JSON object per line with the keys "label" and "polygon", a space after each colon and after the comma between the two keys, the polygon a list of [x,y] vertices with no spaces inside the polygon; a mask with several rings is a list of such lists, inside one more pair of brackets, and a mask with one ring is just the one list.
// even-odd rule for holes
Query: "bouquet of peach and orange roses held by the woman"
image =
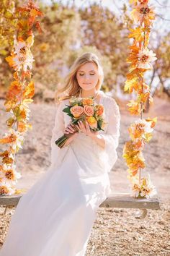
{"label": "bouquet of peach and orange roses held by the woman", "polygon": [[[71,116],[71,124],[75,124],[73,127],[75,132],[79,132],[79,129],[76,127],[78,121],[87,121],[91,132],[103,131],[105,124],[107,124],[104,122],[103,105],[95,103],[93,98],[77,98],[76,96],[72,96],[69,99],[69,103],[69,106],[66,105],[67,107],[63,108],[63,112]],[[55,144],[59,148],[63,148],[66,140],[74,133],[64,134],[55,141]]]}

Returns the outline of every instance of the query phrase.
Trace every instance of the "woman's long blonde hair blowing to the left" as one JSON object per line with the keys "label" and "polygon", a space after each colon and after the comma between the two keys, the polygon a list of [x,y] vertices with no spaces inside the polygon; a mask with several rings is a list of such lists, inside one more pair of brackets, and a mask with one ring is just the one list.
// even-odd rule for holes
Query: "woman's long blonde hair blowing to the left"
{"label": "woman's long blonde hair blowing to the left", "polygon": [[[68,75],[66,76],[66,82],[63,88],[59,89],[57,93],[55,94],[55,102],[58,103],[60,101],[63,101],[65,99],[71,98],[71,96],[79,96],[81,87],[76,79],[76,72],[79,70],[79,68],[86,64],[87,62],[93,62],[98,67],[99,72],[99,80],[96,85],[96,90],[100,90],[102,86],[102,82],[104,80],[104,73],[102,69],[102,65],[99,62],[99,58],[96,54],[92,53],[85,53],[79,56],[74,62],[73,65],[70,68],[70,71],[68,72]],[[63,96],[59,98],[58,95],[63,93]],[[65,95],[64,95],[65,94]]]}

